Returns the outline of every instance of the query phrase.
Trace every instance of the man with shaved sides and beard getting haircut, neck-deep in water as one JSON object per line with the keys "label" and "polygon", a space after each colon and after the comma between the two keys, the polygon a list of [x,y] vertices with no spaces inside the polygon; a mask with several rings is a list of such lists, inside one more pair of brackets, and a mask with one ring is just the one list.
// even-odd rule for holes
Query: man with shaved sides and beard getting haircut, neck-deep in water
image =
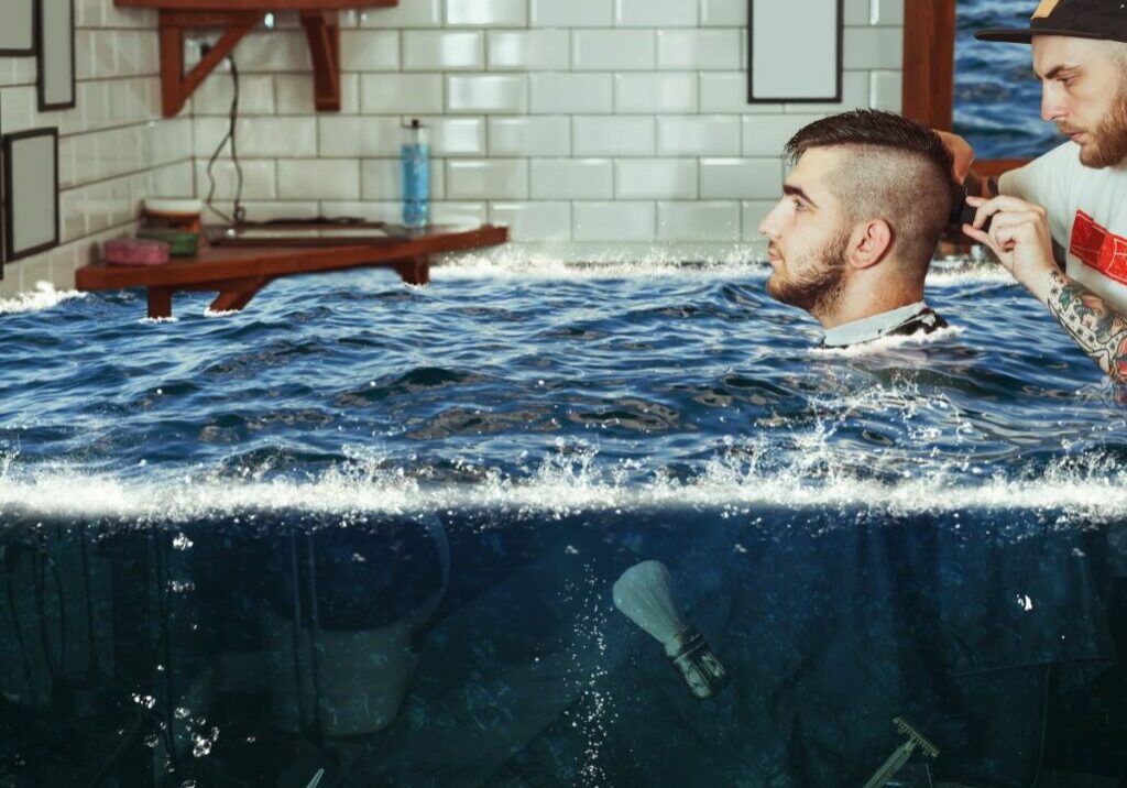
{"label": "man with shaved sides and beard getting haircut, neck-deep in water", "polygon": [[771,296],[814,316],[826,347],[944,328],[923,298],[960,196],[940,136],[858,109],[804,127],[784,156],[783,197],[760,225]]}

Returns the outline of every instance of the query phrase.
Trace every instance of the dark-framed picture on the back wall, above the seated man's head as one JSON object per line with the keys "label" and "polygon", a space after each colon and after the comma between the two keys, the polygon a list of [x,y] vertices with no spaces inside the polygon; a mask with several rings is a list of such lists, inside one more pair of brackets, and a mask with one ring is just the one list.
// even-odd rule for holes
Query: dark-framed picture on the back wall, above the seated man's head
{"label": "dark-framed picture on the back wall, above the seated man's head", "polygon": [[841,101],[844,0],[748,2],[748,104]]}

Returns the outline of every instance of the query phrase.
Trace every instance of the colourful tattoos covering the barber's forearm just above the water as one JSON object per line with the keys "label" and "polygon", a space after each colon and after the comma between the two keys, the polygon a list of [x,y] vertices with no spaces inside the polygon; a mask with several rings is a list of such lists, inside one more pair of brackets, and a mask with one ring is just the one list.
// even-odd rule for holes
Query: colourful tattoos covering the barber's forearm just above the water
{"label": "colourful tattoos covering the barber's forearm just above the water", "polygon": [[1057,272],[1049,281],[1053,316],[1111,380],[1127,383],[1127,316]]}

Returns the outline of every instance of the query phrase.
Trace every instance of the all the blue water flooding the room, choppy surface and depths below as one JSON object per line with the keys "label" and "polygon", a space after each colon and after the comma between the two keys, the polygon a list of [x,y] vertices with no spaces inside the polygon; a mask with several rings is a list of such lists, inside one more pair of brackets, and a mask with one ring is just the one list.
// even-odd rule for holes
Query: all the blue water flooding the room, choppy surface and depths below
{"label": "all the blue water flooding the room, choppy surface and depths below", "polygon": [[[764,280],[3,304],[0,785],[861,786],[903,716],[890,785],[1121,786],[1119,392],[996,269],[850,352]],[[644,560],[713,700],[615,609]]]}

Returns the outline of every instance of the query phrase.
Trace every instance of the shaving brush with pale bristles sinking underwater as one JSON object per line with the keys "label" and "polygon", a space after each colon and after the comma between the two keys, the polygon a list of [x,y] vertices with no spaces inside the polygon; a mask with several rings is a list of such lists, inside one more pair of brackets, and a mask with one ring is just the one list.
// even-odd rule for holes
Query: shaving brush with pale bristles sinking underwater
{"label": "shaving brush with pale bristles sinking underwater", "polygon": [[677,612],[664,564],[642,561],[623,572],[614,583],[614,607],[665,646],[693,697],[711,698],[728,683],[728,672],[704,637]]}

